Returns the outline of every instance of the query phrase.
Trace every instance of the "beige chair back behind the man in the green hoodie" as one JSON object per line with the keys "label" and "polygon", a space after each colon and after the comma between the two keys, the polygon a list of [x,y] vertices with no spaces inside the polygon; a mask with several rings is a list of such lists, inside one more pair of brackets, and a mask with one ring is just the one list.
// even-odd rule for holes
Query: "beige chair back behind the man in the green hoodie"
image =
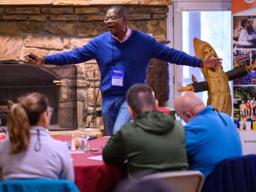
{"label": "beige chair back behind the man in the green hoodie", "polygon": [[204,183],[204,176],[198,170],[164,172],[148,175],[142,179],[164,181],[174,192],[200,192]]}

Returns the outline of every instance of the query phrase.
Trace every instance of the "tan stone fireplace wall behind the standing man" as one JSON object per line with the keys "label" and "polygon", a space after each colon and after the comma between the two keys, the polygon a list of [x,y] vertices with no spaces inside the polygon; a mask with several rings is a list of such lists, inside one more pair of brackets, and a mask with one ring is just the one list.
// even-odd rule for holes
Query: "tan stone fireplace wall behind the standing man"
{"label": "tan stone fireplace wall behind the standing man", "polygon": [[[166,42],[167,5],[171,4],[170,1],[0,1],[0,63],[5,64],[0,64],[0,73],[6,65],[26,63],[23,55],[29,52],[50,55],[86,45],[93,37],[107,30],[102,18],[108,8],[115,4],[127,8],[130,28],[152,34],[160,42]],[[55,103],[51,103],[57,109],[53,125],[57,124],[62,129],[76,129],[88,127],[89,124],[91,127],[102,124],[101,94],[98,92],[100,74],[95,60],[71,66],[39,68],[56,75],[52,80],[57,81],[51,82],[58,90]],[[10,68],[11,71],[13,69]],[[151,61],[147,83],[153,87],[162,105],[169,98],[168,73],[166,62],[157,59]],[[23,74],[19,78],[24,79],[29,75],[25,71]],[[2,95],[1,86],[0,81],[0,99],[10,99]],[[63,121],[70,115],[73,121]],[[93,116],[96,119],[92,120]]]}

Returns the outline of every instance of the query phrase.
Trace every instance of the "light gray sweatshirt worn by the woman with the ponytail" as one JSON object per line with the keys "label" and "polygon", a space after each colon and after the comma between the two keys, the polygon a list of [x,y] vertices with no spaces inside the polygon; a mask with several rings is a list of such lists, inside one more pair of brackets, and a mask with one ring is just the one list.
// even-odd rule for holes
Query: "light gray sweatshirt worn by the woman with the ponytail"
{"label": "light gray sweatshirt worn by the woman with the ponytail", "polygon": [[68,147],[53,139],[44,127],[31,127],[28,150],[18,154],[10,154],[10,150],[11,143],[7,137],[0,144],[0,176],[2,172],[3,180],[42,178],[74,181]]}

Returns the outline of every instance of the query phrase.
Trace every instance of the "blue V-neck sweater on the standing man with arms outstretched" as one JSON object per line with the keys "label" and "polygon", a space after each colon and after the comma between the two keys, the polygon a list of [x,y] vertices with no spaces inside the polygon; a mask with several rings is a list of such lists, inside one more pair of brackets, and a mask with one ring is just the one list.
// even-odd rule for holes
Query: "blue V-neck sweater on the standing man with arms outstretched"
{"label": "blue V-neck sweater on the standing man with arms outstretched", "polygon": [[[125,97],[135,83],[145,83],[149,62],[152,58],[177,65],[200,67],[200,59],[182,51],[170,49],[155,38],[132,30],[129,39],[120,43],[106,32],[92,39],[87,45],[69,52],[46,57],[47,64],[58,66],[76,64],[96,59],[100,70],[102,101]],[[111,68],[125,68],[124,87],[111,87]]]}

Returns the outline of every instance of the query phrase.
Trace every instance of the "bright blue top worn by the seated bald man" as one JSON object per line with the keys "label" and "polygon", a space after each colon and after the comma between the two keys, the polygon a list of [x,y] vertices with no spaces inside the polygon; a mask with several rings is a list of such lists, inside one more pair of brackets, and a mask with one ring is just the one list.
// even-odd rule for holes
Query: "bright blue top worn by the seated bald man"
{"label": "bright blue top worn by the seated bald man", "polygon": [[204,177],[220,161],[242,155],[237,127],[227,114],[220,115],[223,120],[208,105],[185,125],[189,169],[200,170]]}

